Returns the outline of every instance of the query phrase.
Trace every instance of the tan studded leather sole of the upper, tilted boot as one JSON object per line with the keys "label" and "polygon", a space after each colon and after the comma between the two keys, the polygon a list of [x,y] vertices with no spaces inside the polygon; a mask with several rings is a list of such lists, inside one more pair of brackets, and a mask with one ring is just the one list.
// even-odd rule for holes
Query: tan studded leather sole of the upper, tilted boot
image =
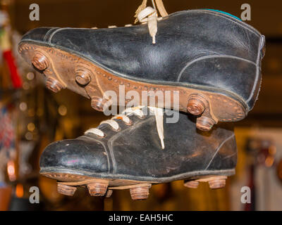
{"label": "tan studded leather sole of the upper, tilted boot", "polygon": [[[30,42],[22,42],[18,51],[28,63],[47,77],[47,88],[54,92],[68,88],[91,98],[91,105],[95,110],[103,111],[107,102],[103,98],[105,91],[115,91],[118,100],[119,86],[123,85],[125,95],[134,90],[140,96],[142,91],[161,91],[165,96],[165,91],[171,91],[170,105],[158,105],[164,108],[173,108],[173,91],[178,91],[179,105],[174,109],[200,116],[197,118],[197,128],[203,131],[212,129],[219,121],[235,122],[243,120],[247,115],[245,103],[239,96],[228,91],[176,82],[154,84],[152,81],[123,78],[80,56]],[[129,101],[131,99],[125,99],[124,103],[118,104],[126,105]],[[149,97],[147,102],[149,103]],[[142,105],[141,98],[138,104]]]}

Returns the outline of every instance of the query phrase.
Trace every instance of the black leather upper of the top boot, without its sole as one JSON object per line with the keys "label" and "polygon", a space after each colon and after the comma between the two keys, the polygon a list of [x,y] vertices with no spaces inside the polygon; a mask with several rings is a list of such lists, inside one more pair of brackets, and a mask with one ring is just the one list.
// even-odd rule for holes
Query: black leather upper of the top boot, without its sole
{"label": "black leather upper of the top boot, without its sole", "polygon": [[261,82],[264,36],[230,15],[208,10],[172,13],[147,25],[111,29],[40,27],[23,41],[54,46],[121,77],[227,91],[251,110]]}

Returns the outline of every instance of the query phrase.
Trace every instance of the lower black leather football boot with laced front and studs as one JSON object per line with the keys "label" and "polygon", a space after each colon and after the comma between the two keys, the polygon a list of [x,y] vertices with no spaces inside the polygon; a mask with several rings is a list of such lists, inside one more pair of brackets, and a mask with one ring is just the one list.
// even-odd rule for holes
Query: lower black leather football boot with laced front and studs
{"label": "lower black leather football boot with laced front and studs", "polygon": [[66,195],[87,186],[95,196],[130,189],[133,200],[140,200],[152,184],[180,179],[190,188],[200,181],[224,187],[237,162],[233,124],[202,132],[185,113],[168,123],[171,116],[163,112],[129,109],[77,139],[51,143],[41,155],[40,173],[60,181],[58,190]]}

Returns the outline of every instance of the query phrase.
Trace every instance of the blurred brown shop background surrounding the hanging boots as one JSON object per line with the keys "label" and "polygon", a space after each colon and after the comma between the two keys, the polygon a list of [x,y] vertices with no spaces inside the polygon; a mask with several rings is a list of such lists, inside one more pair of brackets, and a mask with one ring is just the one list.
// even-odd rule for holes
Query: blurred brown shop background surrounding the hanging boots
{"label": "blurred brown shop background surrounding the hanging boots", "polygon": [[[150,2],[150,1],[148,1]],[[78,188],[60,195],[56,181],[39,175],[39,156],[51,142],[72,139],[106,117],[90,101],[71,91],[53,94],[44,77],[18,56],[18,41],[41,27],[108,27],[134,23],[142,0],[13,0],[0,1],[0,210],[282,210],[282,1],[164,0],[168,13],[213,8],[240,18],[250,4],[254,26],[266,36],[262,88],[255,108],[235,123],[238,143],[236,175],[226,188],[212,191],[183,181],[153,186],[149,199],[133,202],[129,191],[109,199],[90,197]],[[39,5],[39,21],[31,21],[30,4]],[[30,187],[40,191],[30,204]],[[241,203],[241,188],[250,187],[252,202]]]}

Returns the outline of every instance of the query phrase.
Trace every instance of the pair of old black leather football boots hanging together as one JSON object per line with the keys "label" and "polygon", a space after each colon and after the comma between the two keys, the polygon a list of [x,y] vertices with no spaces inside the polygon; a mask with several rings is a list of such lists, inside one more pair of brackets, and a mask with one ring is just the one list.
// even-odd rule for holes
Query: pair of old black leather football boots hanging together
{"label": "pair of old black leather football boots hanging together", "polygon": [[109,197],[130,189],[133,200],[142,200],[152,184],[183,179],[190,188],[201,181],[222,188],[235,174],[231,122],[257,100],[264,36],[214,10],[158,18],[147,7],[138,19],[141,25],[105,29],[39,27],[20,41],[21,56],[47,77],[49,89],[71,89],[91,98],[96,110],[111,102],[107,91],[119,99],[121,87],[125,94],[171,97],[163,105],[137,100],[77,139],[47,146],[40,173],[58,180],[60,193],[86,186],[90,195]]}

